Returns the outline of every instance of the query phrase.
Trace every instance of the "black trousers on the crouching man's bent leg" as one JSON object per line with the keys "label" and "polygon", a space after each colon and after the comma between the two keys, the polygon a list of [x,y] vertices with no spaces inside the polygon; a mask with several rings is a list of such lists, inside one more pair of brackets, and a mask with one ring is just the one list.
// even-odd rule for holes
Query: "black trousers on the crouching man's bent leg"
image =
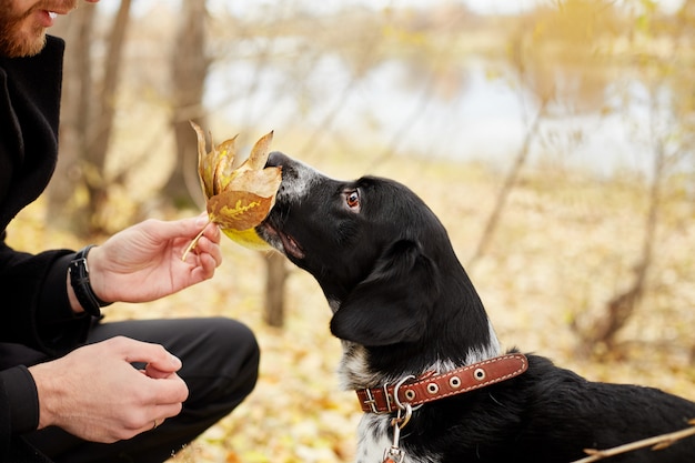
{"label": "black trousers on the crouching man's bent leg", "polygon": [[163,462],[228,415],[255,385],[260,356],[255,338],[233,320],[103,323],[94,326],[88,342],[117,335],[161,344],[181,359],[183,368],[179,375],[189,387],[189,399],[178,416],[168,419],[155,430],[113,444],[85,442],[58,427],[24,436],[57,463]]}

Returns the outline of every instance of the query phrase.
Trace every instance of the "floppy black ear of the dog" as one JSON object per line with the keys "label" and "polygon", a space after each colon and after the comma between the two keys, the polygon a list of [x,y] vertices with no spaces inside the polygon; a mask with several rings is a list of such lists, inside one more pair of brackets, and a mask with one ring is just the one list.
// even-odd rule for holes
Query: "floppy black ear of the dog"
{"label": "floppy black ear of the dog", "polygon": [[331,332],[366,346],[417,341],[437,292],[436,265],[419,243],[386,249],[371,274],[342,302]]}

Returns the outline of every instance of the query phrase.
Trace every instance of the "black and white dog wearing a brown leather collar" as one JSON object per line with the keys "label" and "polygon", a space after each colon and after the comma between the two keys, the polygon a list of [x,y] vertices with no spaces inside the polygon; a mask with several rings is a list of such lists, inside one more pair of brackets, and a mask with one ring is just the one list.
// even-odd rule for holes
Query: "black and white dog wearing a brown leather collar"
{"label": "black and white dog wearing a brown leather collar", "polygon": [[[256,233],[318,280],[333,311],[340,374],[365,410],[357,462],[565,463],[695,419],[695,403],[658,390],[501,352],[446,231],[404,185],[329,179],[278,152],[269,165],[282,184]],[[608,461],[695,462],[695,437]]]}

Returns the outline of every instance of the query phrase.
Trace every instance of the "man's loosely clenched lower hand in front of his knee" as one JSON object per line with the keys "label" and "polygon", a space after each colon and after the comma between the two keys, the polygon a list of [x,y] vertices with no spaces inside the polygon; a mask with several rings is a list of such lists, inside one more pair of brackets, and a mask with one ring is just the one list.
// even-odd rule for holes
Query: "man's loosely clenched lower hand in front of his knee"
{"label": "man's loosely clenched lower hand in front of his knee", "polygon": [[[135,370],[131,363],[145,363]],[[188,387],[181,361],[161,345],[113,338],[31,366],[39,391],[39,429],[112,443],[152,430],[181,412]]]}

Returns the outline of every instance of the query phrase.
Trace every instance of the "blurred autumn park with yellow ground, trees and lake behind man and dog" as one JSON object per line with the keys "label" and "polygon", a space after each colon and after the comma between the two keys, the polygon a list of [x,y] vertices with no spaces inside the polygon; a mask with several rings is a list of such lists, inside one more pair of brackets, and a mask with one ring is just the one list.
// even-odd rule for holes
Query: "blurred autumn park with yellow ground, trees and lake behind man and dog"
{"label": "blurred autumn park with yellow ground, trees and lake behind man and dog", "polygon": [[[188,121],[246,153],[274,130],[273,149],[329,175],[423,197],[504,346],[695,400],[695,1],[481,3],[81,6],[54,28],[61,162],[10,243],[78,249],[197,214]],[[256,390],[172,461],[351,461],[360,413],[320,289],[223,240],[213,280],[105,310],[256,332]]]}

